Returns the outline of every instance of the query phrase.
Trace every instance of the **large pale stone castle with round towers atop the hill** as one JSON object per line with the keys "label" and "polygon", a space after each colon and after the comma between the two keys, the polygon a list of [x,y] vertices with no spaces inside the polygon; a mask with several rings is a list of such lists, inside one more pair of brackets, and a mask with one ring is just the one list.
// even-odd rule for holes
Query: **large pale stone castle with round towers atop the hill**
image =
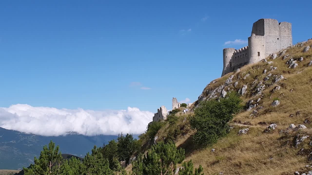
{"label": "large pale stone castle with round towers atop the hill", "polygon": [[256,63],[271,54],[292,45],[291,23],[278,22],[275,19],[260,19],[253,23],[248,46],[241,49],[223,49],[222,76]]}

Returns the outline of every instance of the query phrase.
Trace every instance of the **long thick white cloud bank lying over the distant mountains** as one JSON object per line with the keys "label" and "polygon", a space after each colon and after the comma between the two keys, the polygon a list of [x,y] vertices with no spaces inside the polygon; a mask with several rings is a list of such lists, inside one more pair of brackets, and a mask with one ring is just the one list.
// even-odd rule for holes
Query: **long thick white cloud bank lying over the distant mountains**
{"label": "long thick white cloud bank lying over the distant mountains", "polygon": [[27,104],[0,107],[0,127],[44,136],[140,134],[153,120],[154,114],[128,107],[127,110],[93,111],[33,107]]}

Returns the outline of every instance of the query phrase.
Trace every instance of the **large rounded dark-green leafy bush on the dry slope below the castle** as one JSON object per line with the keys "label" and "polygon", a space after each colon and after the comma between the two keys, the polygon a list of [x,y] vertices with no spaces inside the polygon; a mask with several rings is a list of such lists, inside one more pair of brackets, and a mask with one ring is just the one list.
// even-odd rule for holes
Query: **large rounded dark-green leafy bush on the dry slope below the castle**
{"label": "large rounded dark-green leafy bush on the dry slope below the castle", "polygon": [[233,114],[242,109],[241,99],[235,92],[229,92],[226,98],[203,101],[190,116],[190,125],[196,129],[193,138],[197,145],[207,146],[228,132],[228,122]]}

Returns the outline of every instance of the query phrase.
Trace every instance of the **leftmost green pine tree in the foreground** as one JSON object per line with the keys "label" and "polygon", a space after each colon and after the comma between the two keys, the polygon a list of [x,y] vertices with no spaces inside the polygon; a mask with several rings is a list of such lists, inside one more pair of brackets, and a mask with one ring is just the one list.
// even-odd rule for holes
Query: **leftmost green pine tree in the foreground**
{"label": "leftmost green pine tree in the foreground", "polygon": [[43,146],[39,159],[35,157],[34,162],[30,168],[23,168],[25,175],[61,175],[66,169],[59,146],[55,147],[52,140],[49,147]]}

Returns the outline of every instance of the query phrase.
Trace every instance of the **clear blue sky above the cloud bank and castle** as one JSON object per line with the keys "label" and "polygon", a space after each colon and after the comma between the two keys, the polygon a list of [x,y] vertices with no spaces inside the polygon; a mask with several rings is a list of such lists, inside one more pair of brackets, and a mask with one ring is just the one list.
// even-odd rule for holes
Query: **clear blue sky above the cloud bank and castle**
{"label": "clear blue sky above the cloud bank and castle", "polygon": [[311,38],[310,5],[259,3],[0,1],[0,107],[193,102],[221,76],[222,49],[247,45],[258,19],[291,22],[293,43]]}

